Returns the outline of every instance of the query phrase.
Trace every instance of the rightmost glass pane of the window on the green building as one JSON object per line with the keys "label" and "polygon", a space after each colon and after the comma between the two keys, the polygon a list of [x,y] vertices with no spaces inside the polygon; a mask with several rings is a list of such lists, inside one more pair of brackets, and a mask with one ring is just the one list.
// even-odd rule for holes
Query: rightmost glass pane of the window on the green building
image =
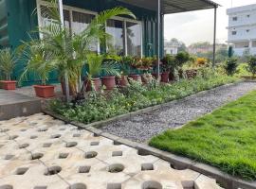
{"label": "rightmost glass pane of the window on the green building", "polygon": [[141,25],[138,23],[126,23],[127,54],[141,56]]}

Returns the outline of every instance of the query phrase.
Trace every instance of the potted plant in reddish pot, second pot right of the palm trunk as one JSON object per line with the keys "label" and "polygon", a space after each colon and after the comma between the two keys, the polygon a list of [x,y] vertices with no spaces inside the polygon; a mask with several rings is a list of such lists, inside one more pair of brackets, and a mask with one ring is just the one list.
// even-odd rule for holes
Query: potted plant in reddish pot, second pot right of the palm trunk
{"label": "potted plant in reddish pot, second pot right of the palm trunk", "polygon": [[[104,77],[101,77],[102,85],[106,87],[106,90],[113,90],[117,87],[116,76],[119,76],[118,62],[120,61],[117,55],[105,55],[102,68],[104,68]],[[106,69],[110,68],[110,69]],[[116,72],[109,72],[109,70],[116,70]]]}

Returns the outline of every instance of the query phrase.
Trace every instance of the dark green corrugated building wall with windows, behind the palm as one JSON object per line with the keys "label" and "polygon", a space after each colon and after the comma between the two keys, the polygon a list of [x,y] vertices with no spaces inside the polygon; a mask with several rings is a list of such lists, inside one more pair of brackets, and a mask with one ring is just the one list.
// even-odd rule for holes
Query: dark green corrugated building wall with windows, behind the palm
{"label": "dark green corrugated building wall with windows, behind the palm", "polygon": [[[81,32],[91,20],[104,9],[124,7],[130,9],[137,19],[116,17],[106,23],[106,32],[113,36],[114,50],[117,54],[125,56],[152,57],[156,55],[156,26],[157,13],[152,9],[143,9],[116,0],[63,0],[64,24],[73,33]],[[38,26],[46,26],[50,18],[44,17],[43,12],[47,2],[44,0],[0,0],[0,48],[15,49],[22,41],[40,36],[34,32]],[[161,17],[162,26],[163,17]],[[162,29],[163,31],[163,29]],[[163,41],[160,34],[160,41]],[[101,53],[100,44],[92,46],[92,50]],[[160,44],[160,54],[163,54],[163,43]],[[26,62],[18,62],[14,78]],[[52,73],[51,82],[57,81],[57,74]],[[24,85],[38,82],[36,76],[29,76]]]}

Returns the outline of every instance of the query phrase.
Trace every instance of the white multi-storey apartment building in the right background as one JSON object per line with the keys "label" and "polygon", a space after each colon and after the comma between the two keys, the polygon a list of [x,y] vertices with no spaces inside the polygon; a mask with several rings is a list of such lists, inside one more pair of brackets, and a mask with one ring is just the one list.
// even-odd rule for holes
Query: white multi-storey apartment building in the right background
{"label": "white multi-storey apartment building in the right background", "polygon": [[234,54],[242,56],[246,50],[256,55],[256,4],[231,8],[229,15],[228,43]]}

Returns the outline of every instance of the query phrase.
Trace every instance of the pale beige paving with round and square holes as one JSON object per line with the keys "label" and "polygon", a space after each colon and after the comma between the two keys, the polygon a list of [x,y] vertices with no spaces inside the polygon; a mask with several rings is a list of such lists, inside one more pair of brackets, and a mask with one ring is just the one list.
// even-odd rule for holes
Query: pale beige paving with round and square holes
{"label": "pale beige paving with round and square holes", "polygon": [[190,169],[43,114],[0,122],[0,189],[217,189]]}

